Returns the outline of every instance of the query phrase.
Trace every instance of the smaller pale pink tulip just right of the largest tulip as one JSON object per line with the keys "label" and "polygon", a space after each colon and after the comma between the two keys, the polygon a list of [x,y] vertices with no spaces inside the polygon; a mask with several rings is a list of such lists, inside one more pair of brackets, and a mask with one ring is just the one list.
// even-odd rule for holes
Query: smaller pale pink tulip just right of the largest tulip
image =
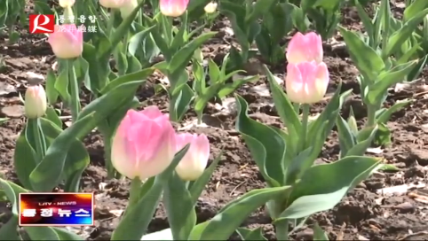
{"label": "smaller pale pink tulip just right of the largest tulip", "polygon": [[186,144],[190,144],[185,156],[178,163],[176,172],[178,176],[186,181],[194,181],[202,175],[207,167],[210,157],[210,142],[205,135],[195,135],[190,133],[178,134],[176,136],[177,152]]}

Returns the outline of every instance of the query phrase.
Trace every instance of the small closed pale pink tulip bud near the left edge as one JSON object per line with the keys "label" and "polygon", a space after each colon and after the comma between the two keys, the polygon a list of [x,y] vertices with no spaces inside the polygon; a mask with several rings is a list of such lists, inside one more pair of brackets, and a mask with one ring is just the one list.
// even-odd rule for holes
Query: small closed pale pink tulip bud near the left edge
{"label": "small closed pale pink tulip bud near the left edge", "polygon": [[46,112],[46,92],[41,85],[29,86],[25,91],[25,115],[27,118],[39,118]]}

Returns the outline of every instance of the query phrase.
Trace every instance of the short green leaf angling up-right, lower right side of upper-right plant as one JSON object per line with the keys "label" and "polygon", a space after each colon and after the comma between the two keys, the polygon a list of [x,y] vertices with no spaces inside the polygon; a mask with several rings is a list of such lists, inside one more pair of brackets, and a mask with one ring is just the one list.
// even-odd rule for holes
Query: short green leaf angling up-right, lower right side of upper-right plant
{"label": "short green leaf angling up-right, lower right side of upper-right plant", "polygon": [[384,99],[384,95],[387,93],[388,88],[392,87],[398,82],[403,82],[408,73],[412,71],[413,67],[416,66],[417,60],[395,66],[388,72],[379,74],[377,81],[369,85],[369,93],[366,94],[366,98],[371,105],[378,105]]}

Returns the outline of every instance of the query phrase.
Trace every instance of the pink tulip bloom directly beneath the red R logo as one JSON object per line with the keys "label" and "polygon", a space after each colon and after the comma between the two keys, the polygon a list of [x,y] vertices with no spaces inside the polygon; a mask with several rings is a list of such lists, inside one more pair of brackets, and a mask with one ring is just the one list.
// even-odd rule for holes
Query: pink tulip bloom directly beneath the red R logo
{"label": "pink tulip bloom directly beneath the red R logo", "polygon": [[75,24],[55,25],[49,44],[58,58],[76,58],[83,52],[83,29]]}

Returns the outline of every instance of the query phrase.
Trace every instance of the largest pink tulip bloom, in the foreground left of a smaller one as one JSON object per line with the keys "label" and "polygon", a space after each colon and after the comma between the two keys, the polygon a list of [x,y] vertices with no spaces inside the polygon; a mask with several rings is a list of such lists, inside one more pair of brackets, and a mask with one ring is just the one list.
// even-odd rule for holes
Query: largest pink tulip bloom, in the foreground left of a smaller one
{"label": "largest pink tulip bloom, in the foreground left of a smaller one", "polygon": [[122,175],[146,180],[170,166],[175,152],[175,130],[169,117],[152,105],[126,113],[113,138],[111,159]]}

